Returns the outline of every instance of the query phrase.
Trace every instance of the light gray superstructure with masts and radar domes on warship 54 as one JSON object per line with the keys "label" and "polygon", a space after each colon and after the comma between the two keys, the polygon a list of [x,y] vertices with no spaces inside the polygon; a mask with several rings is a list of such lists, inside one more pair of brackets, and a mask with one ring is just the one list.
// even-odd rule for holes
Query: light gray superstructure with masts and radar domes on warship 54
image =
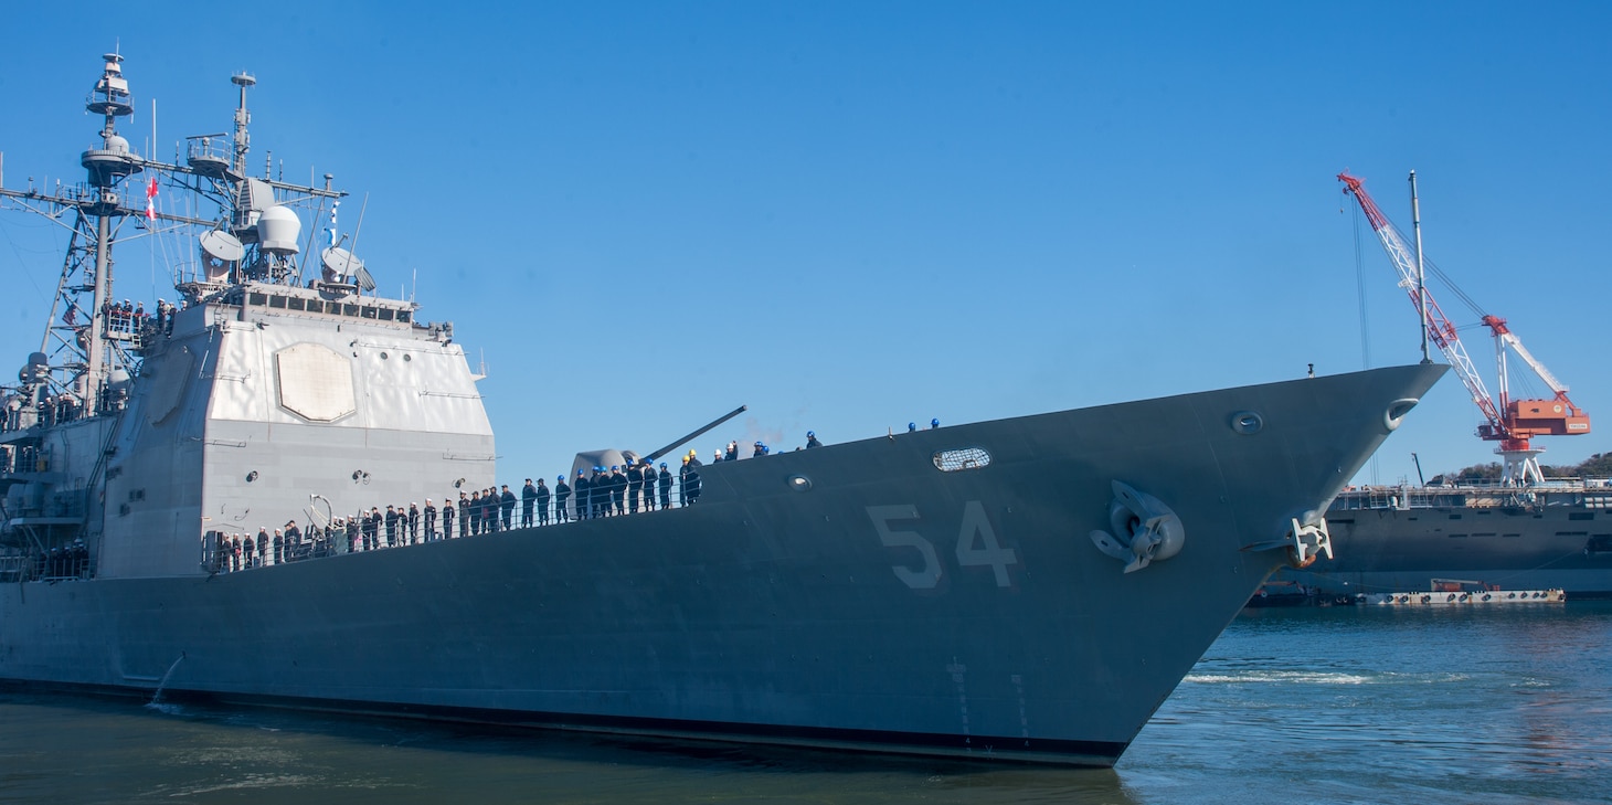
{"label": "light gray superstructure with masts and radar domes on warship 54", "polygon": [[[116,132],[134,106],[123,58],[106,55],[85,182],[0,190],[73,221],[45,342],[5,389],[11,573],[74,553],[82,578],[206,574],[208,534],[492,482],[492,428],[453,326],[371,294],[334,229],[345,194],[329,176],[247,176],[255,79],[232,82],[234,132],[189,137],[182,163],[161,163]],[[185,215],[158,210],[174,195]],[[332,227],[303,236],[301,215]],[[172,266],[172,303],[116,298],[126,236],[193,255]]]}

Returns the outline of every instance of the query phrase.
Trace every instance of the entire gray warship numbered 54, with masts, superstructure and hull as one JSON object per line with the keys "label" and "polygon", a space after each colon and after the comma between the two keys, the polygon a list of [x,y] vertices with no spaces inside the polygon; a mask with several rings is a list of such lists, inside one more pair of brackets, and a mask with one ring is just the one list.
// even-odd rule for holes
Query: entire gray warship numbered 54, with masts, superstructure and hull
{"label": "entire gray warship numbered 54, with masts, superstructure and hull", "polygon": [[[263,521],[490,487],[493,431],[450,324],[334,227],[313,253],[329,177],[248,176],[253,77],[232,134],[160,163],[116,134],[121,63],[87,181],[0,197],[76,221],[5,389],[13,686],[1111,766],[1272,569],[1330,550],[1328,503],[1444,371],[880,434],[701,466],[680,507],[226,563]],[[195,260],[131,313],[111,250],[150,232]]]}

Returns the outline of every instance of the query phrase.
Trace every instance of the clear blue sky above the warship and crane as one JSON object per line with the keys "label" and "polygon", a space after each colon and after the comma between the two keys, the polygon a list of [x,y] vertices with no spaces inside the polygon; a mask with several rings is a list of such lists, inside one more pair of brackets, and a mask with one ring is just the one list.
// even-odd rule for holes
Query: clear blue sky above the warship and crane
{"label": "clear blue sky above the warship and crane", "polygon": [[[152,140],[155,98],[164,160],[227,131],[251,71],[250,163],[334,173],[343,229],[368,194],[358,252],[485,360],[514,482],[740,403],[703,455],[1414,363],[1364,223],[1362,342],[1333,176],[1409,229],[1415,169],[1428,257],[1597,416],[1546,463],[1607,450],[1609,6],[514,6],[11,3],[6,187],[82,177],[113,47],[124,134]],[[0,215],[18,366],[60,248]],[[118,268],[119,295],[171,298],[140,247]],[[1493,377],[1477,315],[1441,302]],[[1493,460],[1478,423],[1448,379],[1377,479]]]}

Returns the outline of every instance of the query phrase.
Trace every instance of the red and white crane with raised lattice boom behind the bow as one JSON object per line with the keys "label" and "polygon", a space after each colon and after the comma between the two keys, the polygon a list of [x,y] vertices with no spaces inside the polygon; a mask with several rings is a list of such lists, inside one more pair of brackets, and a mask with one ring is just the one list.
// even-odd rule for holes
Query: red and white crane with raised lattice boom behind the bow
{"label": "red and white crane with raised lattice boom behind the bow", "polygon": [[[1370,194],[1365,192],[1359,177],[1340,173],[1338,181],[1346,186],[1344,192],[1354,195],[1354,200],[1361,203],[1361,210],[1365,211],[1372,231],[1377,232],[1377,239],[1383,244],[1383,252],[1388,252],[1388,260],[1399,271],[1399,287],[1410,294],[1410,302],[1417,307],[1422,318],[1423,332],[1444,353],[1456,374],[1460,376],[1460,382],[1467,386],[1467,392],[1472,394],[1472,402],[1483,411],[1486,421],[1478,426],[1478,437],[1499,442],[1494,452],[1502,458],[1504,481],[1515,484],[1543,482],[1539,453],[1544,450],[1533,447],[1531,439],[1536,436],[1588,434],[1589,415],[1567,398],[1567,386],[1562,386],[1538,358],[1523,348],[1517,336],[1506,326],[1506,319],[1485,313],[1481,318],[1483,326],[1489,327],[1489,332],[1494,334],[1494,361],[1501,392],[1499,402],[1496,402],[1483,386],[1483,377],[1478,376],[1472,358],[1467,357],[1467,350],[1456,334],[1456,326],[1444,318],[1438,303],[1427,292],[1427,284],[1422,281],[1420,232],[1417,234],[1417,248],[1412,252],[1406,245],[1406,239],[1399,234],[1399,229],[1394,227],[1388,216],[1377,206],[1377,202],[1372,200]],[[1415,171],[1410,173],[1410,205],[1412,216],[1417,216]],[[1510,398],[1510,384],[1506,371],[1507,347],[1544,381],[1556,397]]]}

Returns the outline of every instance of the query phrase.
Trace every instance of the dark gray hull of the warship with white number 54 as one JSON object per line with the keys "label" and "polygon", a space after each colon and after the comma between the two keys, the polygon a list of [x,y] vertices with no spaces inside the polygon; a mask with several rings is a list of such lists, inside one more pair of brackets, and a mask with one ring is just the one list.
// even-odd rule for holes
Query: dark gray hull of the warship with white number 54
{"label": "dark gray hull of the warship with white number 54", "polygon": [[[0,679],[1107,766],[1285,560],[1249,545],[1322,511],[1441,373],[719,463],[669,511],[218,576],[3,584]],[[988,460],[938,469],[959,450]],[[1095,547],[1116,481],[1180,518],[1177,555],[1124,573]]]}

